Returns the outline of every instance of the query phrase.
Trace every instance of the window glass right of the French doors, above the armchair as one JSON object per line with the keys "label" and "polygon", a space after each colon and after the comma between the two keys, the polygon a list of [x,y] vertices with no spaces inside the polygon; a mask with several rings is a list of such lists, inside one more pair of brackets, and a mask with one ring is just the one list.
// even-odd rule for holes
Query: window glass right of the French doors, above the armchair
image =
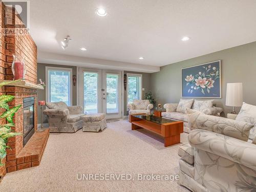
{"label": "window glass right of the French doors, above the armchair", "polygon": [[129,75],[127,102],[132,103],[134,99],[141,99],[141,77],[137,75]]}

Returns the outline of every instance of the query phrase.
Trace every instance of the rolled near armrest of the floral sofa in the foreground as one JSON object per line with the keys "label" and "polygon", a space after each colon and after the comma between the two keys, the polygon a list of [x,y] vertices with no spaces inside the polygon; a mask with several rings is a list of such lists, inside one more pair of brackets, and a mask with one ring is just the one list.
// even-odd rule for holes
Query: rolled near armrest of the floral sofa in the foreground
{"label": "rolled near armrest of the floral sofa in the foreground", "polygon": [[209,152],[256,170],[256,145],[206,130],[193,130],[188,142],[199,150]]}

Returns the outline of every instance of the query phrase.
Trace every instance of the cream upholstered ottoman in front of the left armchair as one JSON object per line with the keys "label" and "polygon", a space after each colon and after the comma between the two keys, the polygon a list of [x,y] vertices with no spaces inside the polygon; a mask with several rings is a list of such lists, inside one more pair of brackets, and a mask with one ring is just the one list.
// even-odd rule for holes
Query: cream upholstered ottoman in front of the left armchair
{"label": "cream upholstered ottoman in front of the left armchair", "polygon": [[95,113],[83,116],[83,132],[99,132],[106,127],[105,114]]}

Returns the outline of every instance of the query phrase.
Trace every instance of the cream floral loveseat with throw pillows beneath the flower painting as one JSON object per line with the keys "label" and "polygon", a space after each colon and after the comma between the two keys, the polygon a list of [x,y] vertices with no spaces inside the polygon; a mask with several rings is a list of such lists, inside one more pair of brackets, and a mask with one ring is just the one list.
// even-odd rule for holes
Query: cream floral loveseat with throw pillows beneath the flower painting
{"label": "cream floral loveseat with throw pillows beneath the flower painting", "polygon": [[[214,100],[181,99],[179,103],[166,103],[163,105],[166,112],[162,112],[162,117],[183,121],[183,131],[189,133],[191,130],[191,123],[188,121],[186,109],[192,108],[207,115],[220,116],[223,109],[214,106],[213,101]],[[179,109],[177,110],[177,108]]]}

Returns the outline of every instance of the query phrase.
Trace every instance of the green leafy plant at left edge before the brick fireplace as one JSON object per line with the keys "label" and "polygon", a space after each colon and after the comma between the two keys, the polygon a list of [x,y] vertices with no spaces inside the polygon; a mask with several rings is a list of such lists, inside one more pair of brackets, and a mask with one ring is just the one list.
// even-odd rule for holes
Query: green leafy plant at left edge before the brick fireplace
{"label": "green leafy plant at left edge before the brick fireplace", "polygon": [[[19,80],[16,80],[19,81]],[[0,83],[0,87],[6,86],[9,83],[13,83],[15,81],[3,81]],[[9,148],[6,144],[9,138],[15,137],[17,135],[21,135],[20,133],[12,132],[11,127],[15,126],[13,123],[13,116],[20,108],[20,105],[14,106],[12,109],[9,108],[8,102],[12,101],[14,96],[12,95],[1,95],[0,96],[0,108],[4,108],[6,112],[4,112],[0,118],[6,118],[9,122],[7,124],[0,125],[0,166],[4,164],[1,163],[2,159],[6,156],[6,148]]]}

